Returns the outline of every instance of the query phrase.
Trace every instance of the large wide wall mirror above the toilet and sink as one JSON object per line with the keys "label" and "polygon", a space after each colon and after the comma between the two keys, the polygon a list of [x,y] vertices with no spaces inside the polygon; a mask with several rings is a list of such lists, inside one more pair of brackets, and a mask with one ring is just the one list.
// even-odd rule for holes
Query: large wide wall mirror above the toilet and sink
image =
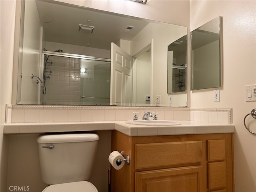
{"label": "large wide wall mirror above the toilet and sink", "polygon": [[[187,27],[72,4],[21,2],[17,104],[172,104],[168,45]],[[160,96],[160,102],[156,97]]]}

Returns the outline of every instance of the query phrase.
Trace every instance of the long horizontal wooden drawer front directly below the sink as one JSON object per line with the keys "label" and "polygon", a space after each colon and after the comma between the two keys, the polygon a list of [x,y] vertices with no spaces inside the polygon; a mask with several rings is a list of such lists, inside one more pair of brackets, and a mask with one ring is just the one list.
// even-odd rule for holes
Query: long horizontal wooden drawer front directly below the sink
{"label": "long horizontal wooden drawer front directly below the sink", "polygon": [[135,168],[202,162],[202,141],[135,145]]}

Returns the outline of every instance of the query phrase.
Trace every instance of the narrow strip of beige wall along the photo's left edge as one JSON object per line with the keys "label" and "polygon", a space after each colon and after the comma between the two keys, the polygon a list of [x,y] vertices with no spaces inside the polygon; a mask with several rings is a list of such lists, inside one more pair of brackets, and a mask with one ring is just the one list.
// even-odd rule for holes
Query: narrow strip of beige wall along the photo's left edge
{"label": "narrow strip of beige wall along the photo's left edge", "polygon": [[8,137],[3,135],[5,104],[12,96],[12,62],[14,52],[15,2],[0,1],[0,164],[1,186],[6,188]]}

